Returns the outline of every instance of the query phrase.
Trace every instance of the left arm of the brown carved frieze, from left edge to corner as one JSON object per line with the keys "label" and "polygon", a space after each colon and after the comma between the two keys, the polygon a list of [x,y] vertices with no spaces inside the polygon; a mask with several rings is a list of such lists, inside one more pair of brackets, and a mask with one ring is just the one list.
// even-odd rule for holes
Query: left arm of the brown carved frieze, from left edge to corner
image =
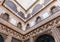
{"label": "left arm of the brown carved frieze, from left edge to corner", "polygon": [[22,39],[23,38],[23,35],[21,35],[20,33],[10,29],[9,27],[3,25],[3,24],[0,24],[0,29],[3,31],[3,32],[6,32],[7,35],[11,35],[13,37],[16,37],[18,39]]}

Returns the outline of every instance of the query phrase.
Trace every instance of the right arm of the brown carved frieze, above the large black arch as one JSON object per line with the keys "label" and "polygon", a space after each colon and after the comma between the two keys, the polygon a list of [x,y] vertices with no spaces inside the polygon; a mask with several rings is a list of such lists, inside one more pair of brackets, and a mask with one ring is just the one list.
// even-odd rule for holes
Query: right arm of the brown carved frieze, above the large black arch
{"label": "right arm of the brown carved frieze, above the large black arch", "polygon": [[60,21],[60,16],[49,21],[48,23],[42,25],[41,27],[38,27],[37,29],[29,32],[28,34],[26,34],[24,36],[25,39],[29,38],[30,36],[35,36],[37,34],[39,34],[40,32],[45,31],[46,29],[48,29],[50,26],[53,26],[54,24],[58,24],[58,22]]}

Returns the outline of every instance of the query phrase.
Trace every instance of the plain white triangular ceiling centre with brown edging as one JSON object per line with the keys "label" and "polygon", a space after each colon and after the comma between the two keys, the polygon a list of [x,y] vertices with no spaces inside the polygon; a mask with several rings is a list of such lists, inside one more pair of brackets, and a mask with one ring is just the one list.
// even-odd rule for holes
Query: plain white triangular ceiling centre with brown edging
{"label": "plain white triangular ceiling centre with brown edging", "polygon": [[39,0],[16,0],[25,11],[28,11],[37,1]]}

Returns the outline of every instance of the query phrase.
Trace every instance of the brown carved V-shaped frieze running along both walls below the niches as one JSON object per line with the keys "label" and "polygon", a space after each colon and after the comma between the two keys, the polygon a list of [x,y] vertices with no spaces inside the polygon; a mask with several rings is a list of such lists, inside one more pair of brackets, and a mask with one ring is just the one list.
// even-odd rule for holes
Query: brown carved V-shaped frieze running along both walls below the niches
{"label": "brown carved V-shaped frieze running along both walls below the niches", "polygon": [[40,32],[43,32],[43,31],[46,31],[50,26],[53,26],[54,24],[57,24],[60,22],[60,16],[49,21],[48,23],[32,30],[31,32],[25,34],[25,35],[22,35],[20,33],[18,33],[17,31],[14,31],[12,29],[10,29],[9,27],[3,25],[3,24],[0,24],[0,29],[3,31],[3,32],[6,32],[7,34],[9,35],[12,35],[13,37],[16,37],[16,38],[19,38],[19,39],[28,39],[30,38],[31,36],[36,36],[37,34],[39,34]]}

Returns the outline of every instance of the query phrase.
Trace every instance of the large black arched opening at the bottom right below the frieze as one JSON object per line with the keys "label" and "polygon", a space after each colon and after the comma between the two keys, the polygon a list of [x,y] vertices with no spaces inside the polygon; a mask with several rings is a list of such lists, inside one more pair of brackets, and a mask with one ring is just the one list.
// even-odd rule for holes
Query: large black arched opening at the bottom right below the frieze
{"label": "large black arched opening at the bottom right below the frieze", "polygon": [[35,42],[55,42],[55,40],[51,35],[44,34],[39,36]]}

